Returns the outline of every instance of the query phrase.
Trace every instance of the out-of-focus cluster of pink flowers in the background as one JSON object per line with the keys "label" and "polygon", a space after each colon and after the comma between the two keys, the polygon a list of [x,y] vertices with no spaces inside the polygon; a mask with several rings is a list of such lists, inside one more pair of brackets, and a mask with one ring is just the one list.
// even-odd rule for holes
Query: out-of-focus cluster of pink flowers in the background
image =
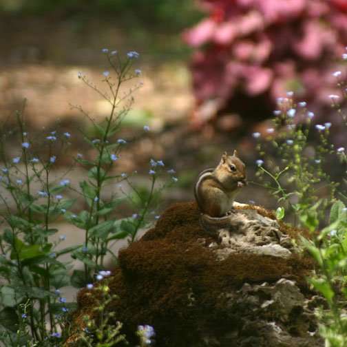
{"label": "out-of-focus cluster of pink flowers in the background", "polygon": [[[319,108],[334,92],[336,61],[346,52],[346,0],[200,0],[207,18],[183,34],[196,48],[197,122],[215,116],[236,92],[275,104],[293,90]],[[206,103],[213,101],[213,107]],[[237,102],[237,101],[235,101]],[[198,108],[199,108],[198,107]]]}

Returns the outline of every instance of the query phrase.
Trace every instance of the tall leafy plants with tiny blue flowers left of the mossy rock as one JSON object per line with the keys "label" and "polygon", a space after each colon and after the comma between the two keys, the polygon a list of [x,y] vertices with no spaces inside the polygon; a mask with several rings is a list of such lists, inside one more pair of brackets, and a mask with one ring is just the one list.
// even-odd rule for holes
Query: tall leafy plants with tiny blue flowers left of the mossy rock
{"label": "tall leafy plants with tiny blue flowers left of the mossy rock", "polygon": [[[59,346],[68,333],[65,317],[76,306],[63,297],[62,288],[92,286],[95,280],[103,279],[107,273],[100,271],[105,271],[106,255],[116,261],[114,243],[120,239],[136,240],[138,231],[153,221],[151,213],[162,189],[177,180],[174,171],[167,173],[162,160],[149,163],[149,189],[132,182],[136,173],[116,173],[123,147],[132,142],[118,133],[134,102],[132,94],[141,85],[136,83],[123,91],[123,83],[140,75],[138,69],[134,70],[139,54],[133,51],[123,57],[107,49],[103,54],[110,67],[102,75],[105,90],[78,73],[78,78],[109,104],[109,114],[101,122],[96,122],[82,106],[72,105],[90,120],[95,135],[81,130],[92,150],[88,156],[80,153],[74,158],[73,166],[86,171],[78,187],[65,175],[56,177],[54,171],[76,136],[74,132],[47,132],[40,143],[26,129],[25,105],[17,112],[18,129],[8,133],[3,125],[0,132],[0,323],[5,329],[0,341],[6,346],[28,346],[28,341],[32,346]],[[144,127],[144,132],[149,130]],[[6,145],[10,136],[17,140],[18,149],[9,158]],[[45,152],[39,151],[43,145]],[[162,174],[169,180],[159,185]],[[73,209],[77,198],[84,202],[82,211]],[[134,209],[132,216],[116,218],[116,212],[125,204]],[[65,235],[52,238],[59,231],[52,223],[62,218],[82,230],[79,244],[64,248]],[[61,260],[62,255],[80,261],[83,270]],[[21,308],[24,303],[25,312]]]}

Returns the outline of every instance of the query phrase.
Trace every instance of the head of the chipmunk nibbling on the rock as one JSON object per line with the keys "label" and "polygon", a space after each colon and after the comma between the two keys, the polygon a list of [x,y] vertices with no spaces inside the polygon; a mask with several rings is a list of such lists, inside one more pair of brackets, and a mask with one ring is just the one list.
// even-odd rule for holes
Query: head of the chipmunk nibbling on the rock
{"label": "head of the chipmunk nibbling on the rock", "polygon": [[238,152],[235,150],[232,156],[224,152],[218,165],[222,171],[221,180],[224,182],[233,182],[239,188],[246,185],[246,165],[238,157]]}

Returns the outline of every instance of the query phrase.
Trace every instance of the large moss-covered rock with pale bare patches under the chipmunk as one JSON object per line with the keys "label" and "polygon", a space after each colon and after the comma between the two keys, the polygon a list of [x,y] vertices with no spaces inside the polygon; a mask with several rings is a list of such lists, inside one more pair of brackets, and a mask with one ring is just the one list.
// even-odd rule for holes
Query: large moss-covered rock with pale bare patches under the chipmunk
{"label": "large moss-covered rock with pale bare patches under the chipmunk", "polygon": [[[305,280],[313,262],[291,242],[300,233],[249,205],[213,233],[201,227],[195,203],[175,204],[120,251],[112,311],[134,345],[136,327],[149,324],[158,347],[324,346]],[[78,306],[65,346],[74,346],[81,317],[92,312],[85,289]]]}

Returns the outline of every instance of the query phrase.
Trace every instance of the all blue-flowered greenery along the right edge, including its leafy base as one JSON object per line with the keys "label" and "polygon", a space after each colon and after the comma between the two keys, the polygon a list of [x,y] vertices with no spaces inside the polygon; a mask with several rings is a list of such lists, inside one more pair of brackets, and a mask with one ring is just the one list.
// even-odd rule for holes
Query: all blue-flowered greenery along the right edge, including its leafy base
{"label": "all blue-flowered greenery along the right edge, including its leafy base", "polygon": [[[342,120],[346,125],[342,107],[346,81],[342,72],[334,72],[333,76],[337,78],[341,94],[328,98],[341,116],[336,121]],[[277,218],[282,219],[286,211],[292,211],[298,224],[311,231],[311,238],[302,237],[301,244],[317,264],[308,282],[325,299],[325,304],[316,310],[319,333],[324,337],[325,346],[343,347],[347,344],[347,208],[341,200],[347,200],[346,179],[343,179],[344,185],[338,187],[330,180],[324,164],[331,156],[346,167],[345,147],[330,144],[330,128],[334,125],[330,122],[313,125],[315,114],[306,109],[306,102],[294,103],[292,96],[289,93],[286,98],[277,100],[273,127],[267,129],[264,142],[259,133],[253,134],[260,154],[256,161],[257,176],[283,204],[277,209]],[[316,139],[315,146],[311,144],[312,138]],[[280,162],[271,158],[271,149],[280,156]],[[321,189],[325,190],[325,196]],[[329,206],[330,215],[326,220]],[[322,225],[325,227],[319,231]]]}

